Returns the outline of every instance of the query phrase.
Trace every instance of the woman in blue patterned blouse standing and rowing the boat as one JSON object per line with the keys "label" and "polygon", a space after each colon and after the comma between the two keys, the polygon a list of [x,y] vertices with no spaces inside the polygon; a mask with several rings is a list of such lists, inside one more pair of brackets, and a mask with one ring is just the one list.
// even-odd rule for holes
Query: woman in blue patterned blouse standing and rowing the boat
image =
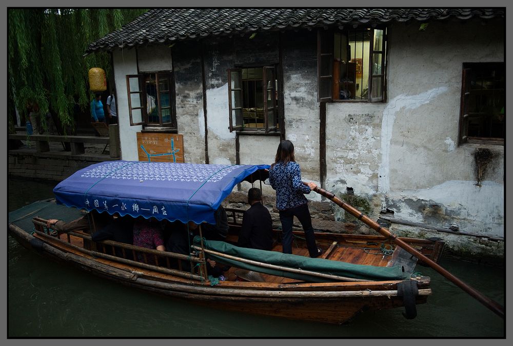
{"label": "woman in blue patterned blouse standing and rowing the boat", "polygon": [[306,186],[301,181],[301,168],[295,162],[294,145],[290,140],[282,140],[278,146],[274,164],[269,170],[269,182],[276,190],[276,208],[280,211],[282,222],[283,253],[292,253],[292,222],[295,216],[303,226],[310,257],[321,255],[322,250],[315,243],[308,200],[304,195],[317,185],[310,181]]}

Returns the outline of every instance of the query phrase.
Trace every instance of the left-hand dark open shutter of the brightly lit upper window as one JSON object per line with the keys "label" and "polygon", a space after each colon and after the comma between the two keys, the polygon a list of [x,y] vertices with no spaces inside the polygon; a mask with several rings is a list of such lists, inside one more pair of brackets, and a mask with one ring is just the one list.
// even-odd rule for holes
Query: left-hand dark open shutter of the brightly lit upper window
{"label": "left-hand dark open shutter of the brightly lit upper window", "polygon": [[318,99],[331,101],[333,88],[333,32],[319,29],[317,32]]}

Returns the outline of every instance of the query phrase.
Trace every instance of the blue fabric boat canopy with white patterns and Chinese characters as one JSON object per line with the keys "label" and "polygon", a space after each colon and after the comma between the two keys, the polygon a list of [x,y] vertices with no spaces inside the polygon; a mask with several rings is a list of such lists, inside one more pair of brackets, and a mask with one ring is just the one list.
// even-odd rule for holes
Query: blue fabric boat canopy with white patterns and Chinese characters
{"label": "blue fabric boat canopy with white patterns and Chinese characters", "polygon": [[241,181],[265,180],[268,165],[109,161],[75,172],[54,189],[67,207],[158,220],[215,223],[214,211]]}

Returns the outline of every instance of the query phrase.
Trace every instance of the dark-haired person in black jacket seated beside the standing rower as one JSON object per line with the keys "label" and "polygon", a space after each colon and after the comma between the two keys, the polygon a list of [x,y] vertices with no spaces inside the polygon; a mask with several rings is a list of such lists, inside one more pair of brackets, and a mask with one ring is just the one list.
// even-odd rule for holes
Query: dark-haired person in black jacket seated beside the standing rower
{"label": "dark-haired person in black jacket seated beside the standing rower", "polygon": [[249,209],[244,212],[237,246],[259,250],[272,249],[272,219],[269,210],[262,205],[262,191],[248,191]]}

